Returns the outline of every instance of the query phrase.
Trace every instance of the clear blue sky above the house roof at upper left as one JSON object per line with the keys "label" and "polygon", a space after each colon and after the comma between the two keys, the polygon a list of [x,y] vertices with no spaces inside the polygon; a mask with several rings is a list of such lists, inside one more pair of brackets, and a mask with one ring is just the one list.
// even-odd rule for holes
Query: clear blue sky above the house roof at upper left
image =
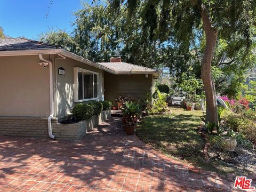
{"label": "clear blue sky above the house roof at upper left", "polygon": [[37,40],[49,29],[70,31],[73,13],[89,0],[53,0],[46,18],[50,0],[0,0],[0,26],[10,37]]}

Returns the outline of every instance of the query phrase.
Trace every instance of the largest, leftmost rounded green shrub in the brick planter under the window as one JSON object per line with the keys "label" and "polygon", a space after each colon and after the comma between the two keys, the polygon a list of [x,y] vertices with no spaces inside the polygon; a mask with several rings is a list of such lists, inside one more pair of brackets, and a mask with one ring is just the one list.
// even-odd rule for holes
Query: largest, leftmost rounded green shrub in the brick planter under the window
{"label": "largest, leftmost rounded green shrub in the brick planter under the window", "polygon": [[79,103],[71,110],[77,121],[89,119],[93,115],[93,109],[90,105]]}

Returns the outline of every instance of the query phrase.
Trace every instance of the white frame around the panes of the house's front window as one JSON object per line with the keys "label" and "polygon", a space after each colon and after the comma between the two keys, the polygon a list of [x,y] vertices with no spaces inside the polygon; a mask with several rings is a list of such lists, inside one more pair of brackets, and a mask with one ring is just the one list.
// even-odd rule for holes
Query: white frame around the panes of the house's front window
{"label": "white frame around the panes of the house's front window", "polygon": [[[93,74],[93,97],[94,97],[94,75],[97,75],[97,82],[98,82],[98,97],[97,98],[90,98],[90,99],[78,99],[78,70],[82,72],[89,72]],[[97,100],[99,101],[100,89],[99,89],[99,73],[94,71],[90,71],[87,69],[83,69],[80,67],[74,67],[74,102],[84,102],[84,101],[92,101]],[[84,89],[84,75],[83,75],[83,89]],[[84,98],[84,90],[83,90],[83,98]]]}

